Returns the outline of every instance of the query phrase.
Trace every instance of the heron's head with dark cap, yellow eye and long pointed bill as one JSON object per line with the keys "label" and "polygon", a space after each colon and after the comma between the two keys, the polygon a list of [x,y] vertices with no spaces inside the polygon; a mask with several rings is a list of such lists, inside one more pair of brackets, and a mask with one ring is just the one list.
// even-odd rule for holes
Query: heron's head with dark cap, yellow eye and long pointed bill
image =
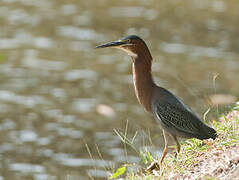
{"label": "heron's head with dark cap, yellow eye and long pointed bill", "polygon": [[144,49],[148,50],[145,42],[136,35],[126,36],[120,40],[99,45],[96,48],[106,47],[121,49],[133,58],[136,58]]}

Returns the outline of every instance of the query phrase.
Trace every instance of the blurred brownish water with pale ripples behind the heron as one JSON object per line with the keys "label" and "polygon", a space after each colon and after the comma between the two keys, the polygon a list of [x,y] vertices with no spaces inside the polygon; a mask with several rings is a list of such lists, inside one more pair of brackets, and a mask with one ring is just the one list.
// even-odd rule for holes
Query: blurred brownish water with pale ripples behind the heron
{"label": "blurred brownish water with pale ripples behind the heron", "polygon": [[148,44],[159,85],[216,118],[239,97],[238,9],[236,0],[1,0],[0,180],[105,179],[140,162],[116,132],[160,155],[131,59],[94,49],[129,34]]}

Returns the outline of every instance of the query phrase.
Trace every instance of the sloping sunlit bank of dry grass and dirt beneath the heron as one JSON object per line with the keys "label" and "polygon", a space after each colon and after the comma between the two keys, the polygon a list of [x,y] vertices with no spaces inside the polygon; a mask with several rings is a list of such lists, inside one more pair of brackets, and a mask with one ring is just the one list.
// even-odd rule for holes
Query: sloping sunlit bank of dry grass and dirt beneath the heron
{"label": "sloping sunlit bank of dry grass and dirt beneath the heron", "polygon": [[[178,157],[175,158],[174,153],[168,154],[160,170],[152,169],[149,172],[145,166],[135,172],[129,170],[132,168],[131,165],[127,165],[128,168],[125,170],[128,171],[124,172],[125,179],[237,179],[239,177],[239,104],[227,115],[222,115],[219,120],[213,121],[212,126],[218,133],[216,140],[190,139],[181,142],[182,150]],[[113,175],[116,177],[117,174]]]}

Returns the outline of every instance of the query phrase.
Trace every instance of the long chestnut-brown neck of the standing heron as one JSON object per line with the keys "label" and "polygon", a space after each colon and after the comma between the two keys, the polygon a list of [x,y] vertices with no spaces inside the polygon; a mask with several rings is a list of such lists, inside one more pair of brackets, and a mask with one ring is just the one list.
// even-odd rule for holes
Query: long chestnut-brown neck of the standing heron
{"label": "long chestnut-brown neck of the standing heron", "polygon": [[132,57],[134,88],[139,103],[148,112],[151,111],[153,90],[156,86],[151,74],[152,56],[150,52]]}

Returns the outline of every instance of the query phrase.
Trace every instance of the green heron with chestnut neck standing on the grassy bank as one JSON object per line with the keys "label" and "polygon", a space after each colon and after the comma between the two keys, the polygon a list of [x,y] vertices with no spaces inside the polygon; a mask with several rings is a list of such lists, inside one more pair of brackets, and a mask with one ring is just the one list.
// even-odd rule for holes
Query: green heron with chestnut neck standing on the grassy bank
{"label": "green heron with chestnut neck standing on the grassy bank", "polygon": [[125,51],[133,61],[135,93],[139,103],[162,127],[165,141],[160,165],[168,153],[168,138],[173,137],[180,152],[177,137],[215,139],[216,131],[204,124],[197,115],[173,93],[157,86],[151,74],[152,56],[146,43],[138,36],[131,35],[118,41],[106,43],[96,48],[112,47]]}

